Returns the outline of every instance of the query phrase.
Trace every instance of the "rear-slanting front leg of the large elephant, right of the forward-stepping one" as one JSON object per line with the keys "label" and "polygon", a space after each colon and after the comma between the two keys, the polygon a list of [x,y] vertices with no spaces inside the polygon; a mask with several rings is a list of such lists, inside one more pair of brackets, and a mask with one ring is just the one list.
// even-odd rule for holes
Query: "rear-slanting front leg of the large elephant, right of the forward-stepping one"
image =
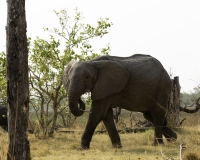
{"label": "rear-slanting front leg of the large elephant, right of the forward-stepping one", "polygon": [[105,116],[105,118],[103,119],[103,123],[108,131],[109,137],[111,139],[112,142],[112,146],[114,148],[121,148],[121,140],[119,137],[119,134],[117,132],[114,120],[113,120],[113,110],[112,108],[108,109],[108,112]]}

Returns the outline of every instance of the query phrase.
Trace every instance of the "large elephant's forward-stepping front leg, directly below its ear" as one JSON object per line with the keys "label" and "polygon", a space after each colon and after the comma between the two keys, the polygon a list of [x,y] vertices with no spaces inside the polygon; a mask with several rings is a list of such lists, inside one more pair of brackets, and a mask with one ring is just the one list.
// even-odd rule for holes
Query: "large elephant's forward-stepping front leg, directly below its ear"
{"label": "large elephant's forward-stepping front leg, directly below its ear", "polygon": [[81,146],[79,150],[89,149],[94,131],[99,122],[106,116],[111,99],[111,97],[107,97],[102,100],[96,100],[92,102],[92,108],[90,110],[89,118],[81,138]]}

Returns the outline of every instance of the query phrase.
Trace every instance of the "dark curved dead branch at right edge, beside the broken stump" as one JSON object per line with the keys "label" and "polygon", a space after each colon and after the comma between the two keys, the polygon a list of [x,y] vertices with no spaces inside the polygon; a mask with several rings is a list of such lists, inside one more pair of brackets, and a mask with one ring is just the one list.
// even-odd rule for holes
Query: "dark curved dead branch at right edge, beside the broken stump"
{"label": "dark curved dead branch at right edge, beside the broken stump", "polygon": [[187,112],[187,113],[196,113],[200,109],[200,97],[198,98],[197,102],[190,106],[180,106],[180,111]]}

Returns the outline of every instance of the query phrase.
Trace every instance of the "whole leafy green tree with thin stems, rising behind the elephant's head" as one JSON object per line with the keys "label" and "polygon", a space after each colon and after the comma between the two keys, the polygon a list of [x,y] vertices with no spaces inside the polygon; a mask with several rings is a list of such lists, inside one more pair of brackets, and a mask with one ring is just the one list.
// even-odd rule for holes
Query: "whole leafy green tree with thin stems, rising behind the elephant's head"
{"label": "whole leafy green tree with thin stems, rising behind the elephant's head", "polygon": [[[55,12],[61,29],[48,29],[65,40],[64,53],[61,53],[60,41],[52,35],[50,40],[37,38],[33,44],[30,42],[30,83],[31,95],[38,97],[41,106],[40,125],[44,126],[44,118],[47,112],[44,112],[44,105],[52,106],[53,119],[50,135],[53,135],[58,114],[62,111],[62,105],[66,106],[67,93],[62,87],[62,73],[64,67],[71,60],[89,60],[97,55],[108,54],[109,45],[101,49],[100,53],[95,53],[89,40],[94,37],[102,37],[107,34],[107,29],[112,25],[108,19],[100,19],[97,26],[92,27],[89,24],[81,23],[83,16],[75,10],[74,21],[72,25],[68,22],[71,20],[65,10]],[[77,54],[77,52],[79,54]],[[38,58],[39,57],[39,58]],[[45,102],[46,101],[46,102]],[[44,103],[45,102],[45,103]],[[46,106],[46,107],[48,107]],[[44,114],[43,114],[44,113]],[[46,122],[50,122],[47,120]],[[47,124],[47,123],[46,123]]]}

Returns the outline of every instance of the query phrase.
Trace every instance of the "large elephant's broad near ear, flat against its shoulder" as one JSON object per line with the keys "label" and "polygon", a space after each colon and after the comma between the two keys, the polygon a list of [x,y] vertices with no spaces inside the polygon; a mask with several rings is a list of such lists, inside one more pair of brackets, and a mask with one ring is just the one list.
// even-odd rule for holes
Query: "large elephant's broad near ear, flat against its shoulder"
{"label": "large elephant's broad near ear, flat against its shoulder", "polygon": [[120,92],[125,87],[129,73],[122,65],[110,60],[93,61],[92,63],[98,70],[92,89],[92,100]]}

